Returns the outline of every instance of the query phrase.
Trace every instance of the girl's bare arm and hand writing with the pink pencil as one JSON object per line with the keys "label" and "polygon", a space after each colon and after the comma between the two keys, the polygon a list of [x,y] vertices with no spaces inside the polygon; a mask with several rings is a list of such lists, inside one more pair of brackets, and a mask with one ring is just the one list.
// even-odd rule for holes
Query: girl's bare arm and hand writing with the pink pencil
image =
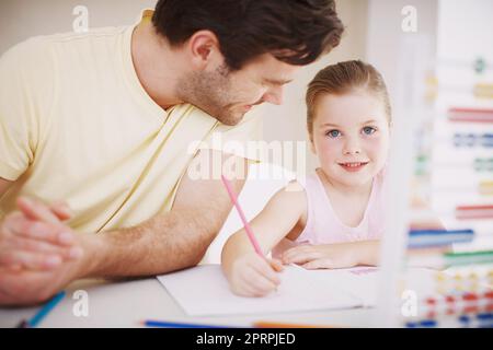
{"label": "girl's bare arm and hand writing with the pink pencil", "polygon": [[[277,191],[250,222],[264,256],[293,230],[306,208],[303,188],[297,183],[290,183],[288,187]],[[265,295],[279,283],[275,270],[280,270],[280,265],[260,257],[244,229],[226,242],[221,266],[231,289],[240,295]]]}

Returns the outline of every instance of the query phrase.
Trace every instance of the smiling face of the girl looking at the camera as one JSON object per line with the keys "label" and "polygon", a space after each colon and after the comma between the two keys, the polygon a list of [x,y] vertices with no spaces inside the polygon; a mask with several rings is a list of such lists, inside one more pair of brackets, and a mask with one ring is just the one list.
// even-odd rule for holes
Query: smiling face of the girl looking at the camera
{"label": "smiling face of the girl looking at the camera", "polygon": [[312,150],[329,182],[343,187],[368,185],[386,164],[389,121],[375,96],[354,91],[317,98]]}

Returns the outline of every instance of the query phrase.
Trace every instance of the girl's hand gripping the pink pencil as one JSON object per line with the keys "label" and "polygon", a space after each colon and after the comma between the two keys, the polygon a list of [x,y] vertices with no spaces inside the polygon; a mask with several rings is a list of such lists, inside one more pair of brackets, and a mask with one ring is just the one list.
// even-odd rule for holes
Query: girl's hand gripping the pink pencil
{"label": "girl's hand gripping the pink pencil", "polygon": [[284,269],[279,260],[267,260],[251,253],[238,258],[228,278],[231,291],[241,296],[264,296],[277,289],[277,272]]}

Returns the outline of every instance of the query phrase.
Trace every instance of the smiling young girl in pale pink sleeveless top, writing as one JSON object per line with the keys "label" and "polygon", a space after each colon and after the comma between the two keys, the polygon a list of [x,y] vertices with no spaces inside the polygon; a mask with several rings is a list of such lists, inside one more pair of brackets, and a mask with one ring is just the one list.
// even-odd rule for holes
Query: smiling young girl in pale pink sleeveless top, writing
{"label": "smiling young girl in pale pink sleeveless top, writing", "polygon": [[239,295],[275,290],[282,264],[318,269],[378,262],[391,126],[385,82],[370,65],[340,62],[314,77],[306,102],[320,167],[305,184],[279,190],[251,222],[264,254],[273,250],[278,259],[255,254],[244,230],[225,244],[222,269]]}

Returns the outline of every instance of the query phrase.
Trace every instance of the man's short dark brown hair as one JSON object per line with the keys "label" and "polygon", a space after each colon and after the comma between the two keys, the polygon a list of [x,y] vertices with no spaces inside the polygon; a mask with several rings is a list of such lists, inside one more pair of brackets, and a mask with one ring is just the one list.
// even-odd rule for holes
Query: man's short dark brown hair
{"label": "man's short dark brown hair", "polygon": [[337,46],[344,31],[333,0],[159,0],[152,23],[172,46],[211,31],[231,70],[266,52],[308,65]]}

